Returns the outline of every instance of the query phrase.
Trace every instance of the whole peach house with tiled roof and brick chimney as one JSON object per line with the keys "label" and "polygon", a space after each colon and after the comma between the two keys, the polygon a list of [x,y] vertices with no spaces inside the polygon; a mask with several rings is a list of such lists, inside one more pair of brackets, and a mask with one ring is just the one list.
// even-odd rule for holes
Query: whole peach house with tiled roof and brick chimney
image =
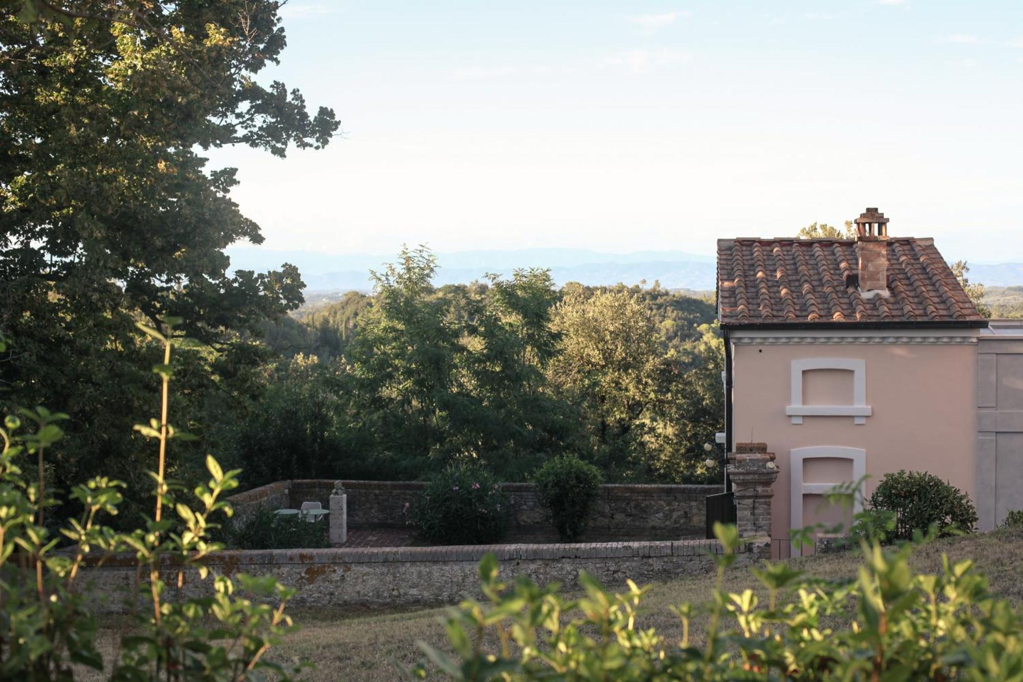
{"label": "whole peach house with tiled roof and brick chimney", "polygon": [[[996,335],[933,240],[889,237],[873,208],[855,222],[849,240],[718,241],[726,447],[758,441],[776,455],[775,539],[837,520],[821,497],[836,483],[865,475],[870,495],[899,469],[967,492],[991,527],[1005,513],[985,499],[996,488],[997,350],[979,361],[978,345]],[[979,378],[990,387],[978,392]]]}

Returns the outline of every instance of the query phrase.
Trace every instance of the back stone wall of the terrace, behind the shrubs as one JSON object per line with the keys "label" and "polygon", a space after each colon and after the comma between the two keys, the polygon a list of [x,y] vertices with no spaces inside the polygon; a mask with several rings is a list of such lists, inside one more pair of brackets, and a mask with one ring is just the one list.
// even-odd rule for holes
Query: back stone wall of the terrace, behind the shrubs
{"label": "back stone wall of the terrace, behind the shrubs", "polygon": [[[343,481],[348,496],[349,528],[387,528],[405,525],[404,507],[425,483],[405,481]],[[503,483],[511,498],[511,525],[518,529],[545,526],[532,483]],[[678,537],[702,535],[706,498],[720,485],[602,485],[588,521],[591,530],[663,530]],[[285,492],[282,498],[281,491]],[[318,501],[328,507],[332,480],[291,480],[270,483],[229,498],[235,507],[253,504],[298,508]]]}

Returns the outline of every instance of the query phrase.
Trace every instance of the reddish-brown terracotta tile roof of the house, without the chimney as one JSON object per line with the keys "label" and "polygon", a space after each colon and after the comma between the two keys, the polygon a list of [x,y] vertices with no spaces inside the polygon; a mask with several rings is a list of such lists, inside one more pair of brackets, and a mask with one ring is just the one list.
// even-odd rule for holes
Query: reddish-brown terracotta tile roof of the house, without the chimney
{"label": "reddish-brown terracotta tile roof of the house, without the chimney", "polygon": [[854,240],[719,240],[721,325],[986,326],[933,240],[892,238],[887,252],[888,295],[862,296]]}

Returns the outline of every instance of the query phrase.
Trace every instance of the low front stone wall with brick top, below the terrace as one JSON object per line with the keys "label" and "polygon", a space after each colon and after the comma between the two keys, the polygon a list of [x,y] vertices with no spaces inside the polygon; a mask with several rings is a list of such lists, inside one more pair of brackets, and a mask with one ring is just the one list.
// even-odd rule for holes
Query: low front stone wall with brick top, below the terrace
{"label": "low front stone wall with brick top, below the terrace", "polygon": [[[409,607],[456,603],[479,591],[480,558],[493,552],[501,576],[525,574],[539,584],[559,582],[576,588],[579,570],[586,570],[609,589],[623,591],[625,580],[639,585],[681,576],[709,573],[712,554],[720,553],[717,541],[593,543],[574,545],[488,545],[463,547],[411,547],[386,549],[320,549],[218,552],[207,561],[214,571],[228,577],[238,572],[272,574],[298,591],[293,604],[311,607]],[[762,548],[751,543],[742,548],[740,564],[751,563]],[[175,570],[166,564],[165,580]],[[133,557],[116,557],[106,565],[84,569],[89,591],[101,600],[97,608],[116,612],[127,608],[128,595],[138,594]],[[211,580],[188,571],[181,588],[188,594],[207,594]],[[175,598],[176,587],[169,587]]]}

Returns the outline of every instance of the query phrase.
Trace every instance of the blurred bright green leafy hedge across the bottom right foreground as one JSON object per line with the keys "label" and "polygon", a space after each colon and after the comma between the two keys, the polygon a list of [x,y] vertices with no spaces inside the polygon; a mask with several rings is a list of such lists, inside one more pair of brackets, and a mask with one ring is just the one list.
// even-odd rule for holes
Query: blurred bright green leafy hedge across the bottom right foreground
{"label": "blurred bright green leafy hedge across the bottom right foreground", "polygon": [[[628,581],[612,593],[585,572],[583,594],[525,578],[501,582],[493,555],[480,562],[482,601],[468,599],[445,620],[449,655],[424,642],[446,679],[504,680],[981,680],[1023,673],[1023,620],[988,591],[970,560],[947,557],[937,574],[916,573],[916,545],[888,551],[862,540],[858,576],[811,579],[785,562],[754,568],[762,585],[722,590],[738,555],[735,526],[715,525],[724,553],[708,603],[673,608],[671,635],[639,626],[648,588]],[[702,631],[703,637],[695,636]],[[428,669],[429,667],[429,669]]]}

